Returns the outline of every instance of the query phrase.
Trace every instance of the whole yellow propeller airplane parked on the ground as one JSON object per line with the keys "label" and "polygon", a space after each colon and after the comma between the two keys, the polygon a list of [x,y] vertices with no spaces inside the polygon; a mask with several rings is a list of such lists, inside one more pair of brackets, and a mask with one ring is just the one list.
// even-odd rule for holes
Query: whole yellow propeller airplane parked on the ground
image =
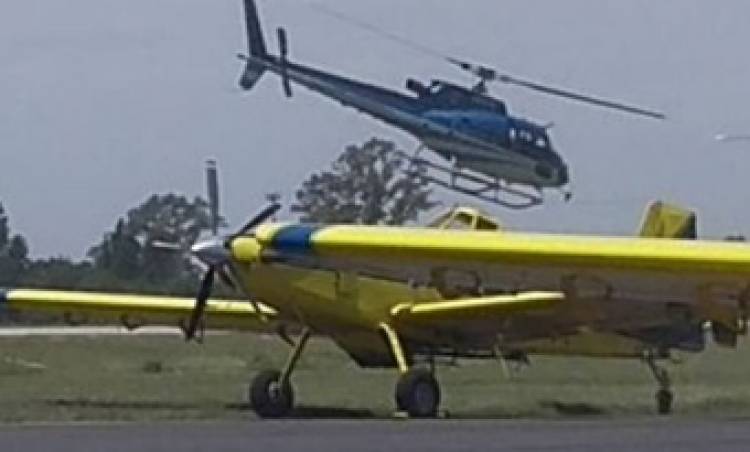
{"label": "whole yellow propeller airplane parked on the ground", "polygon": [[[362,367],[398,370],[395,402],[412,417],[438,413],[435,362],[531,354],[644,360],[673,395],[658,360],[700,351],[704,328],[736,345],[746,333],[750,247],[695,238],[691,212],[657,203],[639,238],[504,231],[458,208],[427,227],[265,223],[192,247],[208,270],[196,300],[44,290],[0,292],[0,305],[120,319],[278,332],[297,340],[285,366],[259,373],[250,399],[262,417],[293,407],[291,377],[309,338],[331,338]],[[208,301],[214,275],[248,301]]]}

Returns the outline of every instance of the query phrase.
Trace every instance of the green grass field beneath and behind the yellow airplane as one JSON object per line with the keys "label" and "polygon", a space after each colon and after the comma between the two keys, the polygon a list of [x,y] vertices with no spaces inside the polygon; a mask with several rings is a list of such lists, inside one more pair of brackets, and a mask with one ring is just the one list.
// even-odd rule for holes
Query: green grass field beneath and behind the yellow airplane
{"label": "green grass field beneath and behind the yellow airplane", "polygon": [[[253,419],[251,376],[278,367],[277,338],[0,339],[0,421]],[[676,416],[750,415],[750,348],[710,350],[671,365]],[[655,383],[638,362],[536,358],[507,378],[496,362],[439,370],[443,407],[455,417],[638,416],[654,412]],[[361,370],[313,341],[294,377],[299,416],[390,417],[395,373]]]}

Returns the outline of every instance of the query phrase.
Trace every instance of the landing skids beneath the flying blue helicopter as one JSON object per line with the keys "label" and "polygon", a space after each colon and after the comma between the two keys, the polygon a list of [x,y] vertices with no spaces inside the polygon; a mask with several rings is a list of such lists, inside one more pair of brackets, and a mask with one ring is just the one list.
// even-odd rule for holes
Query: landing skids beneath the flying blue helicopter
{"label": "landing skids beneath the flying blue helicopter", "polygon": [[[544,202],[544,197],[541,193],[529,193],[527,191],[509,187],[507,184],[504,184],[499,180],[469,173],[460,168],[439,165],[418,157],[418,152],[414,156],[410,156],[400,151],[397,151],[397,154],[408,162],[408,166],[404,172],[409,176],[421,178],[427,182],[431,182],[458,193],[473,196],[482,201],[516,210],[528,209]],[[428,171],[424,171],[425,169],[433,170],[433,172],[437,172],[445,177],[441,178],[432,175]],[[475,186],[467,187],[461,185],[461,182],[471,183]]]}

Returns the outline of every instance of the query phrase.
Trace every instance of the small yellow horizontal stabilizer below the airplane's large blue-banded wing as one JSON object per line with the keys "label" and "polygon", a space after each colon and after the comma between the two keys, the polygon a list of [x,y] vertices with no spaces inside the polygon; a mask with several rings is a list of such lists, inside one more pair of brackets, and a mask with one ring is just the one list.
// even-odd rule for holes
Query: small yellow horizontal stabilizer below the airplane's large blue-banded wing
{"label": "small yellow horizontal stabilizer below the airplane's large blue-banded wing", "polygon": [[562,292],[522,292],[516,295],[493,295],[478,298],[403,303],[391,310],[398,320],[485,317],[516,314],[537,309],[547,309],[565,300]]}

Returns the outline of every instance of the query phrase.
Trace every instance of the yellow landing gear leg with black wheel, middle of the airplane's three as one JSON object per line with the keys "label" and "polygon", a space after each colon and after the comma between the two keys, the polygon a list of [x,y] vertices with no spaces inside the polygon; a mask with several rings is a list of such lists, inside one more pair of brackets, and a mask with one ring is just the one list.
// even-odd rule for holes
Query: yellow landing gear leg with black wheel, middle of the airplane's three
{"label": "yellow landing gear leg with black wheel, middle of the airplane's three", "polygon": [[396,407],[409,417],[436,417],[440,408],[440,385],[433,369],[410,368],[401,341],[390,325],[382,324],[381,331],[396,360],[399,379],[396,384]]}

